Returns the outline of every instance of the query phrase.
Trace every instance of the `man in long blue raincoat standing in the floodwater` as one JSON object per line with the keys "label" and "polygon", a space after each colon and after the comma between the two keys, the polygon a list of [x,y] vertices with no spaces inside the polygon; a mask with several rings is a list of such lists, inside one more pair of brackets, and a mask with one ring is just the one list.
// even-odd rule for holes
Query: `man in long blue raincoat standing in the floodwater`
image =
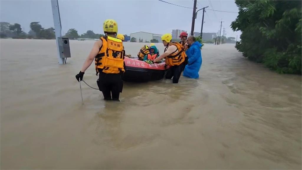
{"label": "man in long blue raincoat standing in the floodwater", "polygon": [[202,63],[200,50],[202,44],[200,44],[198,41],[195,41],[193,36],[190,36],[188,38],[188,45],[190,46],[190,48],[186,51],[188,56],[188,64],[185,66],[183,75],[185,77],[196,79],[199,77],[198,72]]}

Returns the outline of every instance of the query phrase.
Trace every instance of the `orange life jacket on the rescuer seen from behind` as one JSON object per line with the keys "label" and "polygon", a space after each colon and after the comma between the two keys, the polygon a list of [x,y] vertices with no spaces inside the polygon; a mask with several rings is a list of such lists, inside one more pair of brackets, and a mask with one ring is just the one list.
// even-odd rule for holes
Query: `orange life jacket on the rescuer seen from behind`
{"label": "orange life jacket on the rescuer seen from behind", "polygon": [[113,37],[101,37],[103,42],[100,51],[95,56],[95,71],[118,74],[124,70],[124,46],[120,39]]}

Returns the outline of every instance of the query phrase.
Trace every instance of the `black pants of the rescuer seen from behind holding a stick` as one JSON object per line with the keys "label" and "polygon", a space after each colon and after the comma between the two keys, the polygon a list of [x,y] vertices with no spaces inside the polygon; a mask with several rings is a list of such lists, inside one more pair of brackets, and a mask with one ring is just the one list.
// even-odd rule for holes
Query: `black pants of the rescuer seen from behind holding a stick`
{"label": "black pants of the rescuer seen from behind holding a stick", "polygon": [[[106,74],[100,72],[97,80],[98,88],[102,91],[104,100],[119,100],[123,90],[122,74]],[[112,98],[111,98],[112,96]]]}

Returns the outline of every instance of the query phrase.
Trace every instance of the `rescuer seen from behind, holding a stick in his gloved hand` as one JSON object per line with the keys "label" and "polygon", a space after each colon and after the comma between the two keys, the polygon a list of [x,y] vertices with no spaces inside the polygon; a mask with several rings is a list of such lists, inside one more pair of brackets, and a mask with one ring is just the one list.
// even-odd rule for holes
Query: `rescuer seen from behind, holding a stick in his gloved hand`
{"label": "rescuer seen from behind, holding a stick in his gloved hand", "polygon": [[124,46],[117,35],[117,23],[113,19],[107,19],[103,24],[105,37],[101,37],[92,47],[83,67],[76,79],[81,81],[87,68],[95,60],[95,70],[98,75],[98,87],[102,91],[104,100],[119,101],[123,89],[121,76],[124,70]]}

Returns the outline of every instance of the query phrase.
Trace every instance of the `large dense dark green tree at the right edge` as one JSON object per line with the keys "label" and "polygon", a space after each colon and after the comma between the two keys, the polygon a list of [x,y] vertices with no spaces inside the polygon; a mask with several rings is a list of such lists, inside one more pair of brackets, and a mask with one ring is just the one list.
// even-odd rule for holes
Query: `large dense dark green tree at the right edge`
{"label": "large dense dark green tree at the right edge", "polygon": [[301,1],[235,1],[243,56],[279,73],[301,74]]}

